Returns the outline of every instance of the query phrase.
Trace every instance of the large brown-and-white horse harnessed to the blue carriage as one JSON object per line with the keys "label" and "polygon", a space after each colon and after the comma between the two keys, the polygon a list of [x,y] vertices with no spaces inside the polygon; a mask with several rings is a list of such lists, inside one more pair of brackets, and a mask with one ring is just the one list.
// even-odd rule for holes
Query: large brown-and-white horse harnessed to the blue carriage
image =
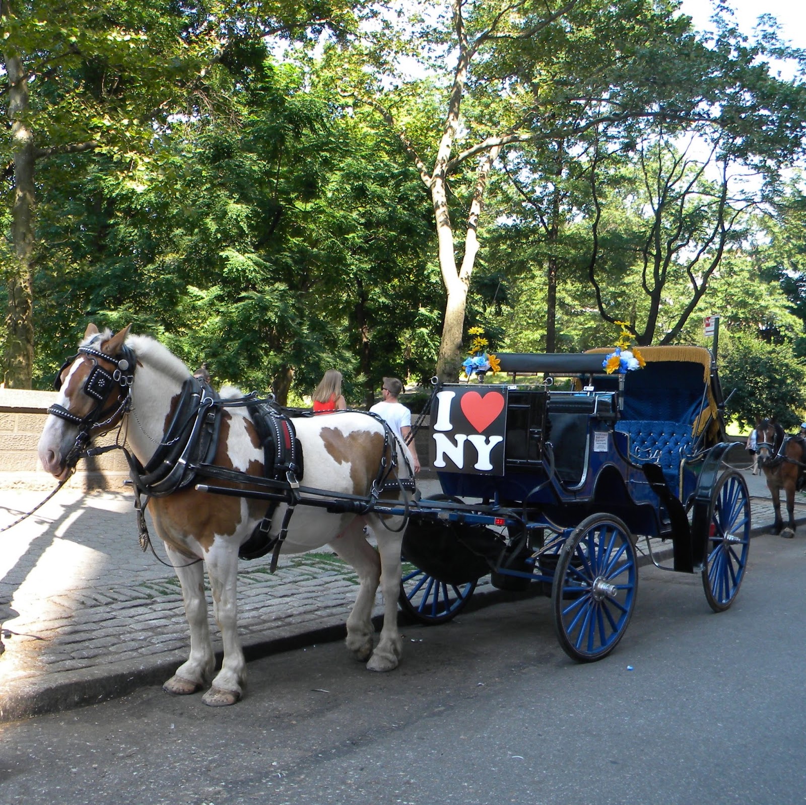
{"label": "large brown-and-white horse harnessed to the blue carriage", "polygon": [[[121,424],[126,443],[146,467],[163,442],[183,383],[190,371],[175,355],[152,338],[129,334],[129,328],[112,335],[90,325],[79,353],[65,363],[56,384],[60,394],[39,439],[43,467],[64,479],[73,471],[78,454],[89,438]],[[101,367],[96,371],[97,367]],[[95,374],[93,375],[93,371]],[[110,382],[111,379],[111,382]],[[107,386],[114,391],[109,393]],[[214,465],[247,475],[261,476],[264,450],[245,407],[226,407],[236,389],[222,390],[221,413]],[[399,475],[409,477],[408,451],[400,442],[384,438],[384,425],[360,412],[342,412],[292,419],[305,463],[306,488],[329,490],[368,498],[379,475],[381,459],[393,459],[397,444]],[[81,435],[83,434],[83,435]],[[72,465],[72,466],[71,466]],[[226,485],[222,482],[222,485]],[[397,494],[395,499],[398,499]],[[280,531],[285,503],[272,517],[272,535]],[[267,504],[241,496],[220,496],[198,491],[193,484],[148,504],[154,525],[181,582],[185,615],[190,629],[190,654],[164,684],[175,694],[191,694],[210,684],[206,704],[226,705],[239,700],[246,677],[243,650],[237,631],[236,575],[239,546],[266,514]],[[355,568],[360,587],[347,619],[347,648],[370,670],[397,667],[402,641],[397,630],[397,595],[401,579],[401,517],[372,512],[328,513],[325,508],[297,506],[287,521],[288,535],[282,553],[298,553],[329,544]],[[372,528],[378,545],[367,542],[364,525]],[[193,561],[204,560],[204,563]],[[214,616],[221,630],[223,662],[214,674],[214,652],[204,593],[206,566]],[[384,597],[384,624],[373,650],[372,608],[380,581]],[[211,683],[210,683],[211,681]]]}

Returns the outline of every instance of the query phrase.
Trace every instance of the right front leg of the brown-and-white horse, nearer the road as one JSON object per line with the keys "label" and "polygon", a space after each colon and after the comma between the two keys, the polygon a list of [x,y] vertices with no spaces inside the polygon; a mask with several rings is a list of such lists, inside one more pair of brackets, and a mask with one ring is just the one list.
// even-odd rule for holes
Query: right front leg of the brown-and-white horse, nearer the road
{"label": "right front leg of the brown-and-white horse, nearer the road", "polygon": [[206,558],[213,612],[224,649],[221,670],[213,680],[202,701],[210,707],[235,704],[243,695],[246,683],[246,661],[238,636],[238,546],[214,542]]}

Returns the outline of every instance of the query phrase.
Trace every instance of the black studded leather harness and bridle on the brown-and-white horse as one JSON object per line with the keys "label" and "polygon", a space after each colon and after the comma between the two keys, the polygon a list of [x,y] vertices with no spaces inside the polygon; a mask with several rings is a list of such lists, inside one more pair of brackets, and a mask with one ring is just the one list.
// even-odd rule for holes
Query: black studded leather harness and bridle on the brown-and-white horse
{"label": "black studded leather harness and bridle on the brown-and-white horse", "polygon": [[[272,573],[276,570],[280,548],[288,534],[289,522],[294,508],[300,500],[300,481],[302,479],[303,455],[302,447],[291,418],[277,406],[273,400],[260,400],[255,392],[237,399],[222,400],[205,380],[189,377],[182,384],[177,405],[163,438],[157,446],[152,458],[145,467],[131,454],[123,444],[116,443],[104,447],[89,447],[93,435],[106,433],[110,426],[123,421],[123,415],[131,411],[131,386],[134,382],[136,358],[127,346],[123,346],[121,357],[113,357],[94,349],[92,346],[80,346],[77,355],[64,362],[54,381],[54,388],[61,388],[61,375],[79,355],[89,355],[93,367],[89,371],[83,391],[96,400],[96,405],[85,417],[77,417],[61,405],[52,405],[48,413],[77,425],[79,432],[76,442],[65,459],[68,467],[74,468],[83,456],[93,456],[109,450],[123,450],[129,464],[131,484],[135,492],[135,512],[139,529],[139,543],[143,550],[153,546],[145,520],[145,508],[152,497],[164,497],[173,492],[188,488],[197,480],[197,476],[207,476],[235,483],[257,482],[252,476],[239,471],[218,467],[212,462],[218,449],[218,435],[221,426],[222,409],[243,407],[255,425],[260,445],[264,449],[263,483],[271,484],[278,490],[276,498],[269,501],[264,517],[251,533],[246,542],[240,546],[239,557],[256,559],[272,550]],[[108,371],[98,363],[102,359],[114,366]],[[116,405],[109,405],[110,396],[118,390]],[[113,410],[114,408],[114,410]],[[368,414],[384,424],[384,450],[378,475],[372,484],[371,500],[380,496],[381,492],[396,487],[407,488],[405,480],[397,479],[389,482],[389,476],[397,467],[397,450],[394,440],[390,439],[390,429],[380,417]],[[105,417],[102,419],[102,417]],[[95,433],[93,434],[93,431]],[[392,442],[392,460],[387,463],[386,454]],[[314,490],[319,492],[319,490]],[[141,500],[141,496],[145,500]],[[270,533],[272,518],[280,502],[286,503],[286,510],[280,525],[280,533],[272,537]],[[366,512],[372,507],[371,502],[362,505],[353,503],[355,511]],[[156,554],[155,554],[156,555]],[[161,561],[161,560],[160,560]]]}

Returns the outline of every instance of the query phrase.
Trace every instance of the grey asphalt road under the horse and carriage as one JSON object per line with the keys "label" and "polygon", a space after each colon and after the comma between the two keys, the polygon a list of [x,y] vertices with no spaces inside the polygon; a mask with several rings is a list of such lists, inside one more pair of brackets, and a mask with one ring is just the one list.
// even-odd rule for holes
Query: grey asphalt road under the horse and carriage
{"label": "grey asphalt road under the horse and carriage", "polygon": [[549,600],[435,628],[372,674],[340,644],[249,666],[210,709],[147,688],[0,726],[0,802],[804,803],[806,540],[758,537],[736,603],[642,568],[621,644],[576,665]]}

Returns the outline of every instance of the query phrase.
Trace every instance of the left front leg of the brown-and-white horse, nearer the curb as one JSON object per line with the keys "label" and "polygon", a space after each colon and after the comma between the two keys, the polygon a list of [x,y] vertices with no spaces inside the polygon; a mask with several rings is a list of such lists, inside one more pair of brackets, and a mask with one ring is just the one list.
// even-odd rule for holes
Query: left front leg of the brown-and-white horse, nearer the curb
{"label": "left front leg of the brown-and-white horse, nearer the curb", "polygon": [[190,656],[177,668],[162,687],[168,693],[188,695],[195,693],[210,682],[215,657],[210,642],[210,624],[207,620],[207,600],[204,593],[204,565],[193,560],[165,543],[168,558],[177,571],[185,603],[185,618],[190,629]]}

